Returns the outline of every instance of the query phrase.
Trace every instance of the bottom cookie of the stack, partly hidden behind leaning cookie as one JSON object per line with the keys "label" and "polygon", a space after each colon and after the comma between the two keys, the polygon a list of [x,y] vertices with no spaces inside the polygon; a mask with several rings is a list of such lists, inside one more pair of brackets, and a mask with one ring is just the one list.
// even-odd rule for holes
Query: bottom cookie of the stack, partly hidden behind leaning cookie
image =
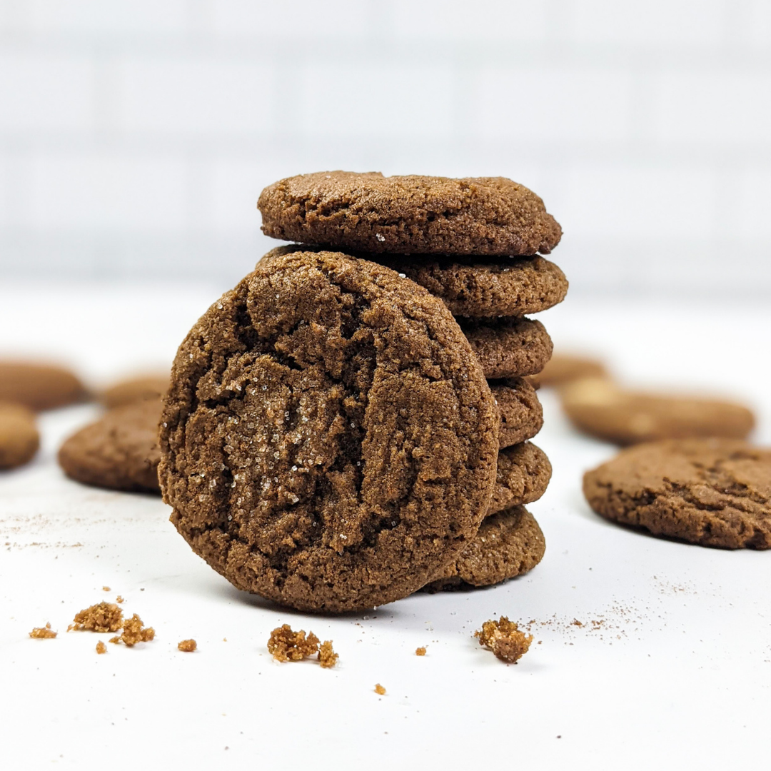
{"label": "bottom cookie of the stack, partly hidden behind leaning cookie", "polygon": [[459,557],[439,571],[425,591],[500,584],[531,571],[544,557],[546,540],[535,517],[514,506],[487,517]]}

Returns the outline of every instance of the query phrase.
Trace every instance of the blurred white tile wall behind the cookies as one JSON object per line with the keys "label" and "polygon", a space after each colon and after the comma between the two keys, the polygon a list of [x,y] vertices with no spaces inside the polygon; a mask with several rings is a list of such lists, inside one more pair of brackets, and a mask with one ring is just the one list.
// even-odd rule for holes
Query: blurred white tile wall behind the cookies
{"label": "blurred white tile wall behind the cookies", "polygon": [[227,286],[325,168],[529,184],[574,292],[766,297],[771,0],[0,0],[0,277]]}

